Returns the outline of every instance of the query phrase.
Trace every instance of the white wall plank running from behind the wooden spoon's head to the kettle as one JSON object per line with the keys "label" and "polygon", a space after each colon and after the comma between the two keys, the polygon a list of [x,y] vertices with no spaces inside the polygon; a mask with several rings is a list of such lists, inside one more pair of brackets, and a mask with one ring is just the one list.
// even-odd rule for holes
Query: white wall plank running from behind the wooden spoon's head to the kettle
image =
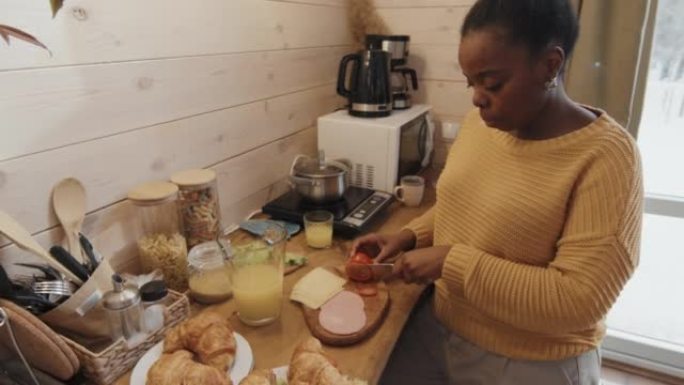
{"label": "white wall plank running from behind the wooden spoon's head to the kettle", "polygon": [[50,191],[62,178],[78,178],[87,190],[88,211],[97,210],[123,199],[138,183],[207,167],[309,127],[340,102],[333,84],[326,84],[5,161],[0,207],[36,233],[57,223]]}

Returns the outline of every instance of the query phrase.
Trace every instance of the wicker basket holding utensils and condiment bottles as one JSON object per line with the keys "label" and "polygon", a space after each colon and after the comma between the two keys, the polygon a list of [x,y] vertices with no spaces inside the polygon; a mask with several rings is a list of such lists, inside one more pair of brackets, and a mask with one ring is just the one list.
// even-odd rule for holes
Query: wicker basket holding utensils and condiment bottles
{"label": "wicker basket holding utensils and condiment bottles", "polygon": [[163,328],[150,334],[147,339],[133,349],[128,349],[123,339],[116,341],[105,350],[93,353],[80,344],[62,336],[74,350],[85,377],[97,385],[109,385],[131,370],[145,352],[164,338],[166,331],[183,321],[190,313],[190,302],[184,294],[169,290],[173,298],[168,307]]}

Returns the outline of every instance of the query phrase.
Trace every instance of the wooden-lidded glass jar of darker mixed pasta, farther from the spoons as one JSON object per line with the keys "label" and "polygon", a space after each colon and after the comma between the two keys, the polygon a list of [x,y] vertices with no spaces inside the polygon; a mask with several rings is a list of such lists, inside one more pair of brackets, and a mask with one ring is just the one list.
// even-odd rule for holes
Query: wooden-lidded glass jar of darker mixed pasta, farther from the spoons
{"label": "wooden-lidded glass jar of darker mixed pasta, farther from the spoons", "polygon": [[216,172],[198,169],[177,172],[171,182],[178,185],[181,220],[188,249],[216,239],[219,231],[219,208]]}

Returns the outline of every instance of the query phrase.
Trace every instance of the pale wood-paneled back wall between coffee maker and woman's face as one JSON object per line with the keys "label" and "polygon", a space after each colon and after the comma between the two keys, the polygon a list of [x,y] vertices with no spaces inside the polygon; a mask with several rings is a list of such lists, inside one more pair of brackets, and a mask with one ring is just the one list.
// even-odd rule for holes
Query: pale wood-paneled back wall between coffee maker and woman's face
{"label": "pale wood-paneled back wall between coffee maker and woman's face", "polygon": [[[375,0],[393,34],[410,35],[409,66],[419,77],[417,101],[434,107],[436,120],[458,121],[472,108],[458,65],[463,18],[475,0]],[[436,136],[435,162],[443,163],[451,141]]]}

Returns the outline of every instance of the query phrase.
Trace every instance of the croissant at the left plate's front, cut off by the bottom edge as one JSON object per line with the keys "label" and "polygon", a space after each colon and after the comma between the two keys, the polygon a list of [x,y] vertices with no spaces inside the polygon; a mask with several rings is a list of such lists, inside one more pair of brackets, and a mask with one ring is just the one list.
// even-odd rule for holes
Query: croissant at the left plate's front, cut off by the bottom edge
{"label": "croissant at the left plate's front, cut off by the bottom edge", "polygon": [[177,350],[162,354],[147,372],[146,385],[232,385],[224,373],[192,360],[192,353]]}

